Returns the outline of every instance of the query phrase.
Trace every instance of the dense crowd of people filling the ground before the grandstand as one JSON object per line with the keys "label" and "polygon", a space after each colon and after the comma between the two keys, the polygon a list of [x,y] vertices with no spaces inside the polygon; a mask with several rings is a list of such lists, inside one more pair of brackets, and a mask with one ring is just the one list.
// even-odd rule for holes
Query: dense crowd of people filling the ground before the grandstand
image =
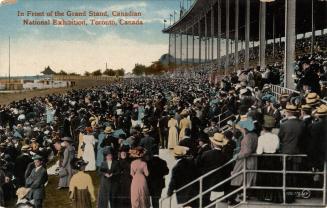
{"label": "dense crowd of people filling the ground before the grandstand", "polygon": [[[204,179],[203,191],[241,171],[244,158],[248,169],[281,168],[277,157],[256,158],[253,153],[307,154],[288,160],[287,168],[320,171],[327,159],[327,105],[321,101],[326,97],[326,63],[325,53],[299,58],[300,93],[279,97],[269,84],[280,84],[282,75],[273,69],[240,70],[208,82],[211,70],[205,68],[192,72],[194,76],[124,79],[0,106],[0,206],[17,195],[17,206],[42,207],[47,169],[57,167],[58,189],[69,192],[73,207],[92,202],[99,208],[159,207],[169,173],[160,149],[171,150],[176,158],[168,196],[231,159],[236,162]],[[230,119],[221,122],[222,113]],[[93,186],[93,171],[99,187]],[[281,185],[278,175],[268,176],[248,173],[245,183]],[[288,186],[299,185],[297,177],[287,181]],[[211,192],[228,194],[243,182],[237,176]],[[177,202],[188,202],[198,191],[198,183],[178,191]],[[253,195],[283,200],[279,190]],[[233,194],[228,202],[238,199]],[[294,199],[288,192],[287,202]],[[210,192],[203,203],[211,203]]]}

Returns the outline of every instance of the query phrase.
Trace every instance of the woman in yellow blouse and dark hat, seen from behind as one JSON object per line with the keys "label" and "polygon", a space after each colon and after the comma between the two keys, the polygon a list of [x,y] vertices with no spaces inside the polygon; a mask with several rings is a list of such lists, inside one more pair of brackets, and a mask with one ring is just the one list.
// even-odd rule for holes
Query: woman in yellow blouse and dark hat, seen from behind
{"label": "woman in yellow blouse and dark hat, seen from behind", "polygon": [[69,184],[70,199],[73,208],[90,208],[95,201],[94,186],[90,175],[84,173],[87,163],[83,159],[74,158],[72,166],[78,172],[73,175]]}

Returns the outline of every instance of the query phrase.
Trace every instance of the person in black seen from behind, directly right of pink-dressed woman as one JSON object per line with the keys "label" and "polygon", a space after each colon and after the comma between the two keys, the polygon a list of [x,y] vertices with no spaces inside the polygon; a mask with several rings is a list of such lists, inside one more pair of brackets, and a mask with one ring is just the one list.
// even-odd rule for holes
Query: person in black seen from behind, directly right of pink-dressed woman
{"label": "person in black seen from behind, directly right of pink-dressed woman", "polygon": [[149,176],[147,178],[150,196],[152,198],[153,208],[159,208],[159,199],[161,197],[162,189],[165,187],[164,176],[169,173],[167,162],[158,155],[147,162]]}

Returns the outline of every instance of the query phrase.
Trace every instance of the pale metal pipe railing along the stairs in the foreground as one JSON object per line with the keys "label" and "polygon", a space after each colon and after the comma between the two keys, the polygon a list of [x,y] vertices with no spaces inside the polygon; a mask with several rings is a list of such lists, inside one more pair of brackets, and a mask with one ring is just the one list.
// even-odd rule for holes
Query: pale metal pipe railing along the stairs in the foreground
{"label": "pale metal pipe railing along the stairs in the foreground", "polygon": [[[250,169],[247,169],[247,159],[249,157],[262,157],[262,156],[265,156],[265,157],[281,157],[282,158],[282,170],[250,170]],[[217,205],[218,203],[222,202],[223,200],[229,198],[230,196],[234,195],[234,194],[237,194],[238,192],[242,191],[243,193],[243,200],[241,203],[245,203],[246,202],[246,193],[247,193],[247,190],[248,189],[269,189],[269,190],[282,190],[283,192],[283,204],[286,204],[286,192],[287,191],[296,191],[296,190],[309,190],[309,191],[320,191],[323,193],[323,196],[322,196],[322,203],[321,204],[304,204],[305,206],[326,206],[326,178],[327,178],[327,174],[326,174],[326,169],[327,169],[327,165],[326,165],[326,162],[324,163],[324,170],[323,171],[319,171],[319,172],[312,172],[312,171],[297,171],[297,170],[289,170],[289,168],[287,168],[287,160],[289,158],[304,158],[306,157],[306,155],[287,155],[287,154],[262,154],[262,155],[257,155],[257,154],[253,154],[253,155],[250,155],[249,157],[247,158],[242,158],[243,160],[243,170],[238,172],[238,173],[235,173],[233,175],[231,175],[229,178],[226,178],[224,179],[223,181],[219,182],[218,184],[212,184],[213,186],[210,187],[209,189],[207,190],[203,190],[203,179],[208,177],[209,175],[213,174],[213,173],[216,173],[217,171],[220,171],[222,168],[230,165],[231,163],[233,163],[235,160],[230,160],[229,162],[227,162],[226,164],[220,166],[219,168],[217,169],[214,169],[202,176],[200,176],[198,179],[190,182],[189,184],[186,184],[184,185],[183,187],[179,188],[178,190],[174,191],[173,195],[172,196],[168,196],[166,198],[163,198],[160,200],[160,207],[161,208],[166,208],[166,207],[169,207],[171,208],[172,206],[172,197],[174,195],[176,195],[176,193],[178,193],[179,191],[195,184],[195,183],[199,183],[200,186],[199,186],[199,194],[197,194],[196,196],[192,197],[191,199],[189,199],[187,202],[183,203],[183,204],[178,204],[177,206],[174,206],[179,208],[179,207],[184,207],[186,206],[187,204],[195,201],[195,200],[198,200],[199,201],[199,208],[203,208],[203,207],[212,207],[214,205]],[[282,174],[282,186],[281,187],[278,187],[278,186],[247,186],[247,174],[248,173],[270,173],[270,174]],[[323,187],[322,188],[311,188],[311,187],[288,187],[287,184],[286,184],[286,176],[287,174],[302,174],[302,175],[323,175]],[[202,201],[202,198],[205,194],[209,194],[212,190],[218,188],[218,187],[221,187],[222,185],[224,185],[225,183],[230,183],[232,179],[234,179],[235,177],[239,176],[239,175],[243,175],[243,185],[237,189],[235,189],[234,191],[226,194],[226,195],[223,195],[223,196],[220,196],[220,197],[217,197],[215,198],[209,205],[207,206],[203,206],[203,201]],[[169,200],[169,204],[168,206],[165,204],[165,206],[163,206],[164,202],[166,200]]]}

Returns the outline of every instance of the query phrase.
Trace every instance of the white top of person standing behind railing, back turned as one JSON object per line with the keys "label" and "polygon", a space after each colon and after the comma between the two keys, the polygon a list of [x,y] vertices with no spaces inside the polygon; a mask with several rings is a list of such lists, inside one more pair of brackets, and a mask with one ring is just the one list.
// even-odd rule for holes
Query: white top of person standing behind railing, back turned
{"label": "white top of person standing behind railing, back turned", "polygon": [[279,138],[270,132],[263,133],[258,138],[257,154],[275,153],[279,148]]}

